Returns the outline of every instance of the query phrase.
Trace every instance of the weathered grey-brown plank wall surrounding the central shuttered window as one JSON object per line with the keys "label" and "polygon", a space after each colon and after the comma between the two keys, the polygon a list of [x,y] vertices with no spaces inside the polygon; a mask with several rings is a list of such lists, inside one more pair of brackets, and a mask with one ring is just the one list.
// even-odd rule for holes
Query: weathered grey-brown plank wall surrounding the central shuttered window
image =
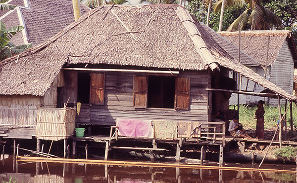
{"label": "weathered grey-brown plank wall surrounding the central shuttered window", "polygon": [[[210,75],[207,71],[183,71],[177,75],[191,78],[189,110],[134,108],[134,75],[151,74],[106,72],[104,105],[82,104],[76,122],[79,124],[115,125],[116,118],[208,121],[208,92],[205,88],[210,87]],[[162,76],[166,75],[162,74]],[[168,74],[168,76],[172,75]]]}

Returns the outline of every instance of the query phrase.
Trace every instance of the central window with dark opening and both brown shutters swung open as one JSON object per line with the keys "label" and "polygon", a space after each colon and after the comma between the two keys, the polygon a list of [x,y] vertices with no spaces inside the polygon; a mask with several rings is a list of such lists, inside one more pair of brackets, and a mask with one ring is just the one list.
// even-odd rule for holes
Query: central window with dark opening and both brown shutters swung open
{"label": "central window with dark opening and both brown shutters swung open", "polygon": [[134,108],[189,110],[190,77],[134,76]]}

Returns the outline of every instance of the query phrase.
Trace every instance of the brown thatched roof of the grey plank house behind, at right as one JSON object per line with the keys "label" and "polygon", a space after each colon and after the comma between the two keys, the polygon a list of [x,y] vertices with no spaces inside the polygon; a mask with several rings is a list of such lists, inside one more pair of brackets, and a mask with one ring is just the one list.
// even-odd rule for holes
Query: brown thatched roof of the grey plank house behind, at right
{"label": "brown thatched roof of the grey plank house behind, at right", "polygon": [[[234,45],[239,46],[238,32],[218,32]],[[297,60],[297,50],[289,31],[241,31],[241,49],[254,58],[262,66],[266,64],[266,53],[269,38],[268,65],[273,65],[284,41],[288,40],[293,59]]]}

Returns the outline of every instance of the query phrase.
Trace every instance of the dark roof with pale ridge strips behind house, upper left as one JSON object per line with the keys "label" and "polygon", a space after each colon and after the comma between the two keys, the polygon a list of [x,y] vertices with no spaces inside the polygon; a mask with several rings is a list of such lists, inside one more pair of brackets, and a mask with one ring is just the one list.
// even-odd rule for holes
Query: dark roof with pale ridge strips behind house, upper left
{"label": "dark roof with pale ridge strips behind house, upper left", "polygon": [[[23,25],[24,30],[13,36],[10,42],[16,45],[32,42],[43,43],[74,22],[72,0],[10,0],[17,5],[14,10],[0,11],[0,21],[6,29]],[[80,3],[81,14],[89,8]]]}

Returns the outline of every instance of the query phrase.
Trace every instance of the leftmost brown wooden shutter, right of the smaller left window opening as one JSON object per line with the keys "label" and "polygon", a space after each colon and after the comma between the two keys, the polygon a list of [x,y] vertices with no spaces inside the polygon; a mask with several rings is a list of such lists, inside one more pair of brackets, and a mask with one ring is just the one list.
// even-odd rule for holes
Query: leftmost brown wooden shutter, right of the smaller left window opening
{"label": "leftmost brown wooden shutter, right of the smaller left window opening", "polygon": [[91,73],[90,104],[104,104],[105,73]]}

